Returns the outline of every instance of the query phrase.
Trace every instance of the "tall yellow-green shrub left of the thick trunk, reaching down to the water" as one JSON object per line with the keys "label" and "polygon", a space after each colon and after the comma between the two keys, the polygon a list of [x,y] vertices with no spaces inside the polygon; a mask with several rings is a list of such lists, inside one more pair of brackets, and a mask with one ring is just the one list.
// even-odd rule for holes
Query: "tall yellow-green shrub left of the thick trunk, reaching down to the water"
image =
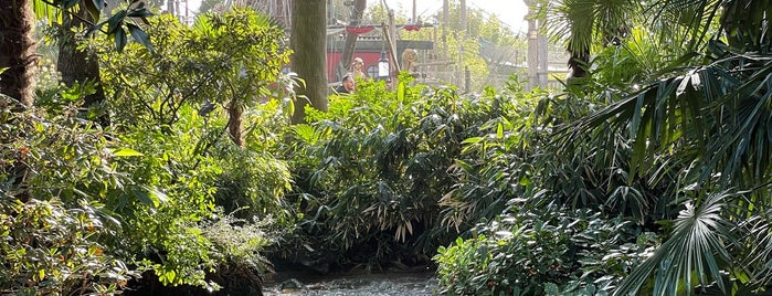
{"label": "tall yellow-green shrub left of the thick trunk, reaching down to the water", "polygon": [[[137,151],[125,163],[131,179],[163,189],[148,198],[165,202],[125,228],[123,247],[154,273],[139,290],[154,281],[260,288],[261,273],[269,269],[260,252],[268,241],[254,230],[292,222],[282,199],[289,175],[263,149],[269,144],[255,144],[265,130],[258,120],[266,119],[248,108],[274,95],[268,85],[279,80],[288,54],[283,30],[250,10],[202,15],[193,28],[159,17],[147,30],[150,49],[127,44],[116,54],[108,44],[88,44],[104,52],[101,65],[114,74],[103,82],[118,137]],[[228,235],[245,240],[242,250],[221,240]]]}

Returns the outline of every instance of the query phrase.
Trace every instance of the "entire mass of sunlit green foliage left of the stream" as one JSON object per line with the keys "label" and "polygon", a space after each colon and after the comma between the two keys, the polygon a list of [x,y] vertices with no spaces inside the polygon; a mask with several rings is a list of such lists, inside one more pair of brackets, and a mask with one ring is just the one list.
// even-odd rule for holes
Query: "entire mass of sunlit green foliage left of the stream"
{"label": "entire mass of sunlit green foliage left of the stream", "polygon": [[[268,87],[287,61],[283,30],[250,11],[193,28],[158,17],[146,29],[152,51],[85,44],[103,59],[108,104],[78,108],[94,91],[82,83],[39,92],[29,113],[2,110],[0,179],[23,180],[0,191],[3,294],[142,293],[155,279],[260,289],[271,268],[261,250],[292,218],[281,200],[289,171],[263,149],[269,141],[254,141],[269,125],[243,110],[287,94]],[[101,114],[113,125],[89,120]],[[234,115],[252,145],[234,145]]]}

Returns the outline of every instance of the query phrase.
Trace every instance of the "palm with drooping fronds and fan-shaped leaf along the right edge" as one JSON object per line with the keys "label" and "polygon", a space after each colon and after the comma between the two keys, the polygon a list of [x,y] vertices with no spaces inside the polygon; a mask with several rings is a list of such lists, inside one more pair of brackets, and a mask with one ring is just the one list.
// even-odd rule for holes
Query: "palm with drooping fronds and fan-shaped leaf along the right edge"
{"label": "palm with drooping fronds and fan-shaped leaf along the right edge", "polygon": [[[606,21],[599,15],[616,15],[600,13],[594,2],[625,4],[557,2],[569,3],[552,20],[567,20],[553,28],[569,32],[564,38],[572,57],[590,53],[588,44],[609,32],[599,30],[596,21]],[[689,295],[698,285],[723,294],[764,288],[772,283],[772,39],[766,33],[772,3],[659,0],[638,9],[654,15],[646,20],[649,28],[686,54],[641,91],[622,93],[623,99],[567,125],[563,135],[578,139],[581,130],[607,125],[628,130],[634,140],[631,176],[675,170],[681,177],[674,181],[688,188],[674,192],[671,201],[684,210],[667,241],[614,295],[639,292],[644,283],[654,295]],[[582,10],[586,12],[577,12]],[[571,15],[593,17],[582,21]],[[669,159],[656,163],[670,165],[654,165],[655,157]]]}

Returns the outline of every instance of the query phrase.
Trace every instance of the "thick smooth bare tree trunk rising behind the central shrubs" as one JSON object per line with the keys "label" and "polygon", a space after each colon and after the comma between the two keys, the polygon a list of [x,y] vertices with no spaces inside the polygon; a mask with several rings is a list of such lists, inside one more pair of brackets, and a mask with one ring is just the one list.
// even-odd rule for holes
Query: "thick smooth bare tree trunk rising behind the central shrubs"
{"label": "thick smooth bare tree trunk rising behind the central shrubs", "polygon": [[327,0],[293,1],[290,64],[295,73],[306,82],[295,103],[293,124],[305,120],[305,106],[327,110]]}

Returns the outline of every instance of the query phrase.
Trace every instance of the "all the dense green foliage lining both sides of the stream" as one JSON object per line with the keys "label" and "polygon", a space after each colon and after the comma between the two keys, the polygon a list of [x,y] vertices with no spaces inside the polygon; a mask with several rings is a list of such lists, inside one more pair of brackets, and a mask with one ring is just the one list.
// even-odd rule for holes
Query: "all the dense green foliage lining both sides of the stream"
{"label": "all the dense green foliage lining both sides of the stream", "polygon": [[302,125],[264,15],[160,15],[151,46],[89,40],[106,104],[82,107],[93,82],[46,83],[33,108],[0,109],[0,293],[248,294],[268,257],[435,263],[448,295],[765,292],[772,64],[757,24],[772,4],[651,8],[677,17],[664,30],[572,21],[639,3],[561,3],[549,20],[569,50],[596,53],[564,92],[512,77],[459,95],[403,74]]}

